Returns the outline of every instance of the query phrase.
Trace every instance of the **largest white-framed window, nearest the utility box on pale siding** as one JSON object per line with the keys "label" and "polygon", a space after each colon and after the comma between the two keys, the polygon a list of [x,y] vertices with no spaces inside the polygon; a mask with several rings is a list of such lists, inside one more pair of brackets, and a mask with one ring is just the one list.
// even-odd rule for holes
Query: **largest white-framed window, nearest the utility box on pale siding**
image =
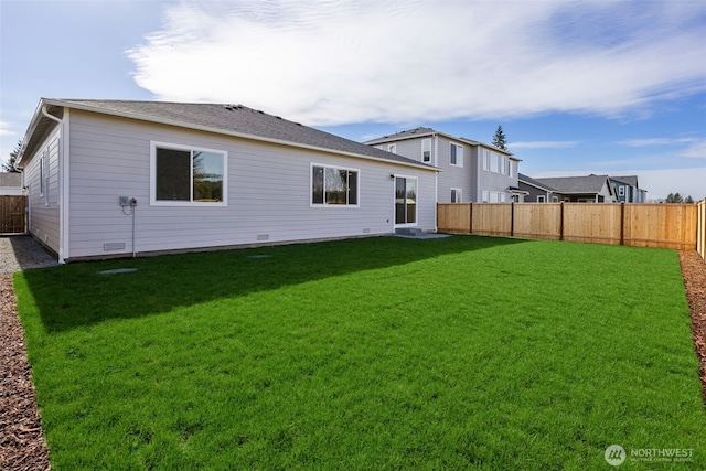
{"label": "largest white-framed window, nearest the utility box on pale siding", "polygon": [[152,204],[225,205],[225,152],[152,143]]}

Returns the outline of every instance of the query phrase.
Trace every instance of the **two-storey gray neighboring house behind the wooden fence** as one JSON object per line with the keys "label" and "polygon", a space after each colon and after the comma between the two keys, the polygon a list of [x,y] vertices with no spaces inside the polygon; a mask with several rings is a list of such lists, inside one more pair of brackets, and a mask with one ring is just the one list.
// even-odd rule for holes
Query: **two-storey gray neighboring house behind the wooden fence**
{"label": "two-storey gray neighboring house behind the wooden fence", "polygon": [[440,170],[439,203],[522,201],[520,159],[493,146],[419,127],[365,142]]}

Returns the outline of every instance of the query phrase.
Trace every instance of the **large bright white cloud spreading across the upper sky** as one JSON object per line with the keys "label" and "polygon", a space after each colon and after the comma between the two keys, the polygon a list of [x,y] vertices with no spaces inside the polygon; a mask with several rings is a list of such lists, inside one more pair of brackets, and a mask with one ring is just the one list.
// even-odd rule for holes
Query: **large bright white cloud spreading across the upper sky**
{"label": "large bright white cloud spreading across the upper sky", "polygon": [[308,125],[621,116],[706,89],[704,15],[675,1],[184,1],[128,55],[159,99]]}

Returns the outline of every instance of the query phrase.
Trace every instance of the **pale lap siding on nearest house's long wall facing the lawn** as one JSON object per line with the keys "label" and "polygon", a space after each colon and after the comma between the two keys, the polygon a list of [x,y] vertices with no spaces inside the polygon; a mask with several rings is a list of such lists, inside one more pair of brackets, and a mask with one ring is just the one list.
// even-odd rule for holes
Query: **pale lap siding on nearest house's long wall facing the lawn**
{"label": "pale lap siding on nearest house's long wall facing the lawn", "polygon": [[[391,173],[418,178],[418,226],[436,228],[434,171],[79,110],[71,119],[69,259],[115,255],[106,243],[132,253],[119,196],[138,200],[138,253],[391,234]],[[150,205],[151,141],[226,151],[227,206]],[[311,207],[311,163],[357,169],[360,207]]]}

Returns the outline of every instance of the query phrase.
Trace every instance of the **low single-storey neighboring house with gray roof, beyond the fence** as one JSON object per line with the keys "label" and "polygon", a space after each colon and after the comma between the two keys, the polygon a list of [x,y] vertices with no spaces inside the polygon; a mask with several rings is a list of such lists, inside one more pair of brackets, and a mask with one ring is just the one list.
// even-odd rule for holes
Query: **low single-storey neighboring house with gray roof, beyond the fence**
{"label": "low single-storey neighboring house with gray roof, beyond the fence", "polygon": [[[534,182],[552,189],[552,196],[567,203],[614,203],[614,186],[608,175],[557,176],[534,179]],[[554,199],[553,199],[554,201]]]}

